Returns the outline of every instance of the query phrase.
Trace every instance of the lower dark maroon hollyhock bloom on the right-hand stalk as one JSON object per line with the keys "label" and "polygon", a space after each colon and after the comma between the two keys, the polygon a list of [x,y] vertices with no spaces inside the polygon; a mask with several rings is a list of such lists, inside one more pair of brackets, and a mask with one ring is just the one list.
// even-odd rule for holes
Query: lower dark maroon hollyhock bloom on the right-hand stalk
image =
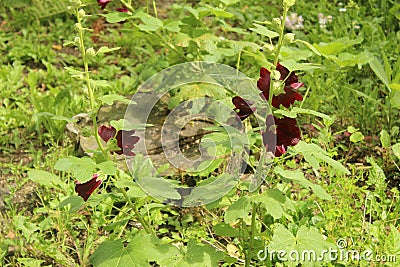
{"label": "lower dark maroon hollyhock bloom on the right-hand stalk", "polygon": [[[300,141],[300,129],[297,127],[297,121],[292,118],[275,118],[276,148],[275,156],[279,157],[286,153],[288,146],[295,146]],[[271,138],[271,131],[262,133],[264,146],[268,145],[268,139]]]}

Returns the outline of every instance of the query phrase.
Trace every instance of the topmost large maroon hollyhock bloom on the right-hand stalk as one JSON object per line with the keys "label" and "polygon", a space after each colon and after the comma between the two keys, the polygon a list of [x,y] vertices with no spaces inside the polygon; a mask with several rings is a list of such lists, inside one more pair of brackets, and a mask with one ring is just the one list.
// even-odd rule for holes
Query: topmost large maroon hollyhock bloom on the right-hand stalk
{"label": "topmost large maroon hollyhock bloom on the right-hand stalk", "polygon": [[[280,80],[285,81],[284,94],[279,94],[272,97],[272,106],[279,108],[280,105],[288,108],[294,101],[302,101],[303,97],[296,91],[304,86],[300,83],[297,75],[294,72],[289,72],[287,68],[278,63],[276,69],[280,72]],[[290,75],[289,75],[290,73]],[[266,68],[261,68],[260,79],[257,81],[257,87],[262,91],[265,99],[269,99],[269,89],[271,83],[271,73]]]}

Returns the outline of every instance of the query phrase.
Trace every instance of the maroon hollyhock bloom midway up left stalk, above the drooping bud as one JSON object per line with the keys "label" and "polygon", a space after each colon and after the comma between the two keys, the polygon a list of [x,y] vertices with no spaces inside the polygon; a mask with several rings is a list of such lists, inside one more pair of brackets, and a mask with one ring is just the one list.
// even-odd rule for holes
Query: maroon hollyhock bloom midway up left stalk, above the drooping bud
{"label": "maroon hollyhock bloom midway up left stalk, above the drooping bud", "polygon": [[[133,134],[135,133],[134,130],[122,130],[117,132],[117,130],[112,126],[102,125],[99,127],[98,133],[101,139],[103,139],[105,142],[108,142],[108,140],[115,137],[115,139],[117,140],[117,146],[121,149],[114,151],[118,155],[124,154],[126,156],[135,156],[135,153],[132,152],[132,149],[135,147],[135,144],[139,142],[139,137],[133,136]],[[124,139],[123,143],[122,137]]]}

